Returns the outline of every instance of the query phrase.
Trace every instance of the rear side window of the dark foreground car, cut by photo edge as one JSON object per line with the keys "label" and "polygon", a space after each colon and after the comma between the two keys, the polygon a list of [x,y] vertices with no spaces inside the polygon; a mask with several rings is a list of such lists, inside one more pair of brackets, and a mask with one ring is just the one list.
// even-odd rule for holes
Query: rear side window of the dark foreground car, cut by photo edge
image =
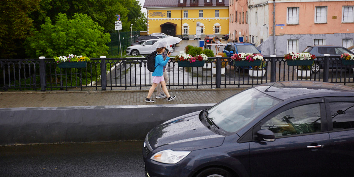
{"label": "rear side window of the dark foreground car, cut by photo edge", "polygon": [[353,102],[333,102],[329,103],[333,130],[354,128],[354,103]]}

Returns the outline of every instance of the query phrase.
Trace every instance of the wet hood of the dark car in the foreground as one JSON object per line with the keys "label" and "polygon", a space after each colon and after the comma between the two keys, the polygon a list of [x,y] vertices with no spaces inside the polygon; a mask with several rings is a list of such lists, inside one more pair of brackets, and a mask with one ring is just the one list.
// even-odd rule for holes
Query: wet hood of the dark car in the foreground
{"label": "wet hood of the dark car in the foreground", "polygon": [[199,113],[179,116],[152,129],[147,139],[153,152],[165,149],[198,150],[220,146],[225,136],[214,133],[202,124]]}

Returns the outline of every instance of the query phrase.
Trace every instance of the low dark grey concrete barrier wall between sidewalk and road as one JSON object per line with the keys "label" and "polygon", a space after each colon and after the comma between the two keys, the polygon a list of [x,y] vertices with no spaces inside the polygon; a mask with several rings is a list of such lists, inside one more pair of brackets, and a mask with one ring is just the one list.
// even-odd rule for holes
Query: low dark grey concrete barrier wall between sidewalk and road
{"label": "low dark grey concrete barrier wall between sidewalk and road", "polygon": [[142,140],[154,126],[212,105],[1,108],[0,145]]}

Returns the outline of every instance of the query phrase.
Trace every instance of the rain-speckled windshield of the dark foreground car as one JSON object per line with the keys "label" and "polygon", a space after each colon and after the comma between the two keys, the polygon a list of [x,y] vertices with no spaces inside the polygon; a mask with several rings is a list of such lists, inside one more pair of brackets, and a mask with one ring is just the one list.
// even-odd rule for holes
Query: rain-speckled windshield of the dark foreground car
{"label": "rain-speckled windshield of the dark foreground car", "polygon": [[278,103],[278,99],[252,88],[213,106],[208,117],[224,131],[234,133]]}

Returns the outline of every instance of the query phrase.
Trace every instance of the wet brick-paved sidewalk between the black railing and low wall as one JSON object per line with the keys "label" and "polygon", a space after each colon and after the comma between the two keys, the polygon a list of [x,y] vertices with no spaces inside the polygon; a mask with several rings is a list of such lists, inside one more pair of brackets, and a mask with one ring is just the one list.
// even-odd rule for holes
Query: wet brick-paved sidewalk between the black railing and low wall
{"label": "wet brick-paved sidewalk between the black railing and low wall", "polygon": [[169,90],[170,95],[177,96],[170,102],[156,99],[155,91],[152,96],[154,103],[145,102],[148,90],[0,92],[0,108],[218,103],[244,89]]}

